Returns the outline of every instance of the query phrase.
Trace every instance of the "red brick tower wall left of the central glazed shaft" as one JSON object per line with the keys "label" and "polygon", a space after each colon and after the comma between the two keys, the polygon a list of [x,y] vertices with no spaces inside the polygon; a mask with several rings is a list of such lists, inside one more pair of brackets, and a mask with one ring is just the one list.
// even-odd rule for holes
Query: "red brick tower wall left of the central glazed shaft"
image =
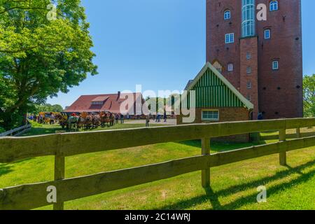
{"label": "red brick tower wall left of the central glazed shaft", "polygon": [[[207,0],[207,62],[218,59],[223,76],[239,90],[239,37],[241,36],[241,1]],[[224,11],[231,10],[232,20],[224,20]],[[231,22],[231,23],[230,23]],[[225,34],[235,33],[235,43],[225,44]],[[228,63],[234,64],[228,72]]]}

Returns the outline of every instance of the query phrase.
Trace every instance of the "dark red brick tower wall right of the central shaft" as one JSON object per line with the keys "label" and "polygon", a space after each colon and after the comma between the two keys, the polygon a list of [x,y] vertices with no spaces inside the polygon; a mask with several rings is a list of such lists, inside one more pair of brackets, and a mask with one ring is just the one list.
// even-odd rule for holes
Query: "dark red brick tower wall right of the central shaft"
{"label": "dark red brick tower wall right of the central shaft", "polygon": [[[269,40],[263,38],[267,27],[272,31]],[[267,119],[302,117],[301,27],[300,0],[279,1],[279,11],[268,10],[267,21],[257,22],[260,111]],[[272,71],[274,58],[279,58],[279,71]]]}

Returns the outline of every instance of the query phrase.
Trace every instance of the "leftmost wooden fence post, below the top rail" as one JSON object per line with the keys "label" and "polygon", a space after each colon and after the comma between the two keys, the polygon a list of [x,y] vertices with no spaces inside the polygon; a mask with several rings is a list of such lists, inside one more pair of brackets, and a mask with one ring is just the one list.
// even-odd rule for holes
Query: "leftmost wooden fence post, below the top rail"
{"label": "leftmost wooden fence post, below the top rail", "polygon": [[[55,181],[64,179],[64,155],[60,152],[61,134],[59,134],[59,141],[57,146],[57,153],[55,155]],[[57,189],[57,200],[58,200],[58,189]],[[58,202],[53,205],[54,210],[64,210],[64,202]]]}

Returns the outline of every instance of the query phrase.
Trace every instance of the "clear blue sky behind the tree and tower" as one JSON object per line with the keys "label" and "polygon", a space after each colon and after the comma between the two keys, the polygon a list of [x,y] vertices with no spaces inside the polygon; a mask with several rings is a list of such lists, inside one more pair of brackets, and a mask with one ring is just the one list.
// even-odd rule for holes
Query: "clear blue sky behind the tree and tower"
{"label": "clear blue sky behind the tree and tower", "polygon": [[[99,75],[48,99],[71,105],[81,94],[182,90],[206,60],[206,0],[83,0]],[[302,0],[304,74],[315,73],[314,0]]]}

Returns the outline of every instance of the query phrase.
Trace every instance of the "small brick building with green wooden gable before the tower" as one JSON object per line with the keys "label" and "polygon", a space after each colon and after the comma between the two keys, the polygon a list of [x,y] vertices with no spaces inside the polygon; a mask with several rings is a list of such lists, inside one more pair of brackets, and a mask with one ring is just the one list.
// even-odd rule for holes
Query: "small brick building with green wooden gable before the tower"
{"label": "small brick building with green wooden gable before the tower", "polygon": [[[190,107],[190,90],[195,90],[195,123],[215,123],[251,120],[253,104],[218,72],[209,62],[190,80],[187,106]],[[183,124],[183,116],[177,116]],[[238,140],[248,140],[248,135]]]}

